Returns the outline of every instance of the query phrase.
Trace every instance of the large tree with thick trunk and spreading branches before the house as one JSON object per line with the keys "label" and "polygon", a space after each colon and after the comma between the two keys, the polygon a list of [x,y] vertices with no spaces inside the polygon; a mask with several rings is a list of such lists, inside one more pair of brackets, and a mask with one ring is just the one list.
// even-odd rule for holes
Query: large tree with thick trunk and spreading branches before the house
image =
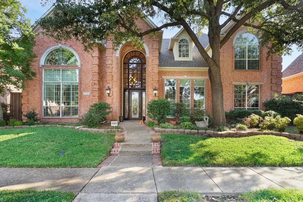
{"label": "large tree with thick trunk and spreading branches before the house", "polygon": [[[46,2],[49,0],[45,0]],[[298,0],[57,0],[51,16],[40,21],[45,34],[58,41],[75,37],[89,50],[95,41],[111,39],[114,48],[131,40],[142,47],[143,36],[163,28],[183,27],[207,62],[211,83],[214,126],[225,125],[220,49],[238,28],[259,32],[260,44],[271,53],[290,53],[303,47],[303,1]],[[158,28],[143,30],[135,22],[147,16],[161,18]],[[222,19],[220,21],[220,19]],[[221,22],[221,23],[220,23]],[[234,22],[222,35],[221,30]],[[212,55],[195,33],[208,28]],[[140,45],[138,45],[140,46]]]}

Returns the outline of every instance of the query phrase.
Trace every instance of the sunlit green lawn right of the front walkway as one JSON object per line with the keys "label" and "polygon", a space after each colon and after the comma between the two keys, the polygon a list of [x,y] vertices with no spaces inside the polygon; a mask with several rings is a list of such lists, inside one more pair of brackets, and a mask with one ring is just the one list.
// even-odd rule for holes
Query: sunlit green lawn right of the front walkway
{"label": "sunlit green lawn right of the front walkway", "polygon": [[274,135],[161,134],[163,166],[301,166],[303,142]]}

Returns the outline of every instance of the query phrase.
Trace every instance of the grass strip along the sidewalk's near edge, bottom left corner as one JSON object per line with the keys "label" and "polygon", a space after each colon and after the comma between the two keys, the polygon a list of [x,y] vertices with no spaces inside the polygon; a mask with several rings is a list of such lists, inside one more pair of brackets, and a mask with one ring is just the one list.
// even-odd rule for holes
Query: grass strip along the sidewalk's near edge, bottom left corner
{"label": "grass strip along the sidewalk's near edge, bottom left corner", "polygon": [[75,198],[73,192],[52,190],[0,190],[1,202],[68,202]]}

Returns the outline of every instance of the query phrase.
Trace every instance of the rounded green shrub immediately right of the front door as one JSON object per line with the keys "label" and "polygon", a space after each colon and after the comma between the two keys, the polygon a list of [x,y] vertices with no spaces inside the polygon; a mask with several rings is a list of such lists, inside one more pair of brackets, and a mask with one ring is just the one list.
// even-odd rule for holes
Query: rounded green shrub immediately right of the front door
{"label": "rounded green shrub immediately right of the front door", "polygon": [[157,121],[158,124],[164,123],[171,111],[171,101],[166,99],[158,98],[149,101],[147,104],[148,117]]}

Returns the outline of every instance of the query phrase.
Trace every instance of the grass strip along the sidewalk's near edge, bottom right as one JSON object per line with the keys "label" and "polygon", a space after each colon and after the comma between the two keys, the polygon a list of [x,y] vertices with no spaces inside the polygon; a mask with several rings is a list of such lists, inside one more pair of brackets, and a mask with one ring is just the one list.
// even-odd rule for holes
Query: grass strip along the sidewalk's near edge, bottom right
{"label": "grass strip along the sidewalk's near edge, bottom right", "polygon": [[261,189],[239,196],[209,197],[193,191],[162,191],[158,202],[302,202],[303,190],[299,189]]}

